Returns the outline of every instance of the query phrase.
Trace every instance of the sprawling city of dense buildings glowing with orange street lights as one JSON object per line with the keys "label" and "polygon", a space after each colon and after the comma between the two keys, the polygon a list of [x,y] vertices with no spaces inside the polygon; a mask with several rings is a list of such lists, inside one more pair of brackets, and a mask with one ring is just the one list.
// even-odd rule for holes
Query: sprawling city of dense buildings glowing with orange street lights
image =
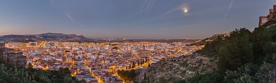
{"label": "sprawling city of dense buildings glowing with orange street lights", "polygon": [[69,68],[70,75],[78,80],[106,83],[124,82],[117,75],[117,70],[143,69],[163,59],[189,56],[204,45],[153,42],[73,43],[42,41],[40,43],[10,42],[6,45],[3,44],[2,47],[14,52],[7,51],[8,55],[21,54],[24,56],[16,57],[17,61],[14,64],[46,71]]}

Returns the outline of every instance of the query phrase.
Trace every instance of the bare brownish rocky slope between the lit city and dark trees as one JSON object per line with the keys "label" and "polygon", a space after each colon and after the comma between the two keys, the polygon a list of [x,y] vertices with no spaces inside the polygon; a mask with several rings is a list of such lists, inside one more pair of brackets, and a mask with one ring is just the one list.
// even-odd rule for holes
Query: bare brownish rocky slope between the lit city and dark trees
{"label": "bare brownish rocky slope between the lit city and dark trees", "polygon": [[[180,56],[168,60],[161,60],[144,69],[151,82],[174,82],[185,80],[196,74],[210,73],[216,69],[215,60],[201,55]],[[141,78],[139,78],[141,79]]]}

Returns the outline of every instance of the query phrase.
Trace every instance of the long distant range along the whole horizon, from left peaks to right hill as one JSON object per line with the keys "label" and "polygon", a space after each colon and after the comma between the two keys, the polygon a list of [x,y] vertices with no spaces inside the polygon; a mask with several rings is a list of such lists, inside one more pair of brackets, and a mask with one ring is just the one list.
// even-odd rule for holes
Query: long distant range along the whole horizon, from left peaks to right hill
{"label": "long distant range along the whole horizon, from left peaks to right hill", "polygon": [[39,40],[55,41],[80,41],[80,42],[159,42],[159,43],[193,43],[201,39],[125,39],[125,38],[86,38],[83,35],[62,34],[62,33],[45,33],[45,34],[26,34],[26,35],[4,35],[0,40],[12,40],[15,42],[30,42]]}

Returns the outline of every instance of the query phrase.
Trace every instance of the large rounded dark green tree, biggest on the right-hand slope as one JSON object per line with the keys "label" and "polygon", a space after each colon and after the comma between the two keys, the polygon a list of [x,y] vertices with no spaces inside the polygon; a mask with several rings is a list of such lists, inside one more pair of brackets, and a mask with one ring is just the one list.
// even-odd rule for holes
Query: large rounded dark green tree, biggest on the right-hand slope
{"label": "large rounded dark green tree, biggest on the right-hand slope", "polygon": [[253,62],[250,34],[245,28],[235,29],[230,33],[225,43],[219,48],[219,71],[235,70],[247,62]]}

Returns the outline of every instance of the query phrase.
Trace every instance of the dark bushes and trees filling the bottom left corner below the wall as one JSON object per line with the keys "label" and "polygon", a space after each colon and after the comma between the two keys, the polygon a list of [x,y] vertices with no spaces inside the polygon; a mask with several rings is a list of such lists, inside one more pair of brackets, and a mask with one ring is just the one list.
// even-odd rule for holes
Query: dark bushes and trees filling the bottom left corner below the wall
{"label": "dark bushes and trees filling the bottom left corner below the wall", "polygon": [[[61,71],[42,71],[14,67],[0,61],[1,83],[80,83],[76,78],[70,76],[68,69]],[[83,82],[83,81],[81,81]],[[84,82],[85,83],[85,82]]]}

